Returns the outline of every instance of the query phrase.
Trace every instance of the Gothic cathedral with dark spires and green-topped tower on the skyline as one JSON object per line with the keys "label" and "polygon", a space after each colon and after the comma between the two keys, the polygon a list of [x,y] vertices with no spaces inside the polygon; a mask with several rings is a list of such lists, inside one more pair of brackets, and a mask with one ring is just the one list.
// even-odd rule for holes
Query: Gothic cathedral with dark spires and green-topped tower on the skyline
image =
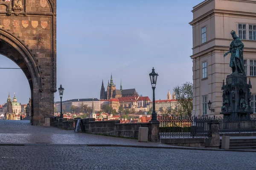
{"label": "Gothic cathedral with dark spires and green-topped tower on the skyline", "polygon": [[133,89],[122,89],[122,81],[120,83],[120,90],[116,89],[116,84],[113,83],[111,74],[110,82],[108,81],[107,91],[105,91],[104,83],[102,80],[102,87],[100,90],[100,99],[118,99],[120,97],[138,96],[137,91]]}

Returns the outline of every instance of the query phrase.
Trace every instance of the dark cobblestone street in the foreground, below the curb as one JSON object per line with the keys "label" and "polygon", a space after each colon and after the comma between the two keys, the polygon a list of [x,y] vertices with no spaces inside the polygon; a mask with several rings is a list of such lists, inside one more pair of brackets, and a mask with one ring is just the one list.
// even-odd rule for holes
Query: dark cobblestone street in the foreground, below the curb
{"label": "dark cobblestone street in the foreground, below the curb", "polygon": [[0,146],[1,170],[255,170],[255,153],[134,147]]}

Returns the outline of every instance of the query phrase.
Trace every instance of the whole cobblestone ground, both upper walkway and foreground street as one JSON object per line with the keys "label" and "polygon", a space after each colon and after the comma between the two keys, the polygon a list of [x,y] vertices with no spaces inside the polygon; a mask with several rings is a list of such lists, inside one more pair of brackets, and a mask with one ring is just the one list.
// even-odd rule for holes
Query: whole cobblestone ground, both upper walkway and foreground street
{"label": "whole cobblestone ground, both upper walkway and foreground street", "polygon": [[[30,145],[0,146],[0,170],[254,170],[256,167],[253,159],[255,153],[140,148],[170,145],[74,133],[56,127],[31,126],[29,121],[1,120],[0,144],[3,143]],[[138,147],[62,144],[121,144]]]}

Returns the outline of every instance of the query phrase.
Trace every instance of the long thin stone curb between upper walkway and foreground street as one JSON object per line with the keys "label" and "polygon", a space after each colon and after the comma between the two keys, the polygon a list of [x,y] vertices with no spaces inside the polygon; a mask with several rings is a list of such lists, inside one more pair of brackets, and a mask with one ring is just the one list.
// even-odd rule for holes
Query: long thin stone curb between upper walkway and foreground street
{"label": "long thin stone curb between upper walkway and foreground street", "polygon": [[164,147],[164,146],[143,146],[143,145],[122,145],[122,144],[22,144],[22,143],[0,143],[0,146],[44,146],[44,147],[136,147],[151,149],[182,149],[182,150],[211,150],[211,151],[230,151],[230,152],[256,152],[256,150],[234,150],[234,149],[211,149],[200,147]]}

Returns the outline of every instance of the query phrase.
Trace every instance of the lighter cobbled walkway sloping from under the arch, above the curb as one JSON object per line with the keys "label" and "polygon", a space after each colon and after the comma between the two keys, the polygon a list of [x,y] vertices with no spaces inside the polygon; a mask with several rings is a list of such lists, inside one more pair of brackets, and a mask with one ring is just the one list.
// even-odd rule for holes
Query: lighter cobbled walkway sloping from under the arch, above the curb
{"label": "lighter cobbled walkway sloping from under the arch, above the curb", "polygon": [[75,133],[57,127],[32,126],[29,121],[0,120],[0,143],[15,144],[121,144],[166,147],[160,143],[141,143],[135,139]]}

